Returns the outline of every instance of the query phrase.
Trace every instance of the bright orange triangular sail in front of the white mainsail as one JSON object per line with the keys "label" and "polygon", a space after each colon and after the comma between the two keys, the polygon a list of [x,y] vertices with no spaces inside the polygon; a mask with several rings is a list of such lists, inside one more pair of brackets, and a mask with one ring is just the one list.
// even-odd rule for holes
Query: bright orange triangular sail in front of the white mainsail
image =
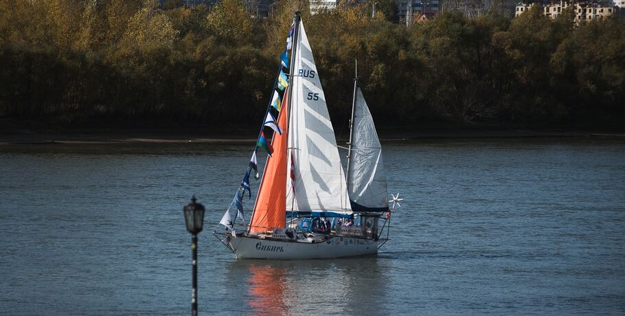
{"label": "bright orange triangular sail in front of the white mainsail", "polygon": [[286,226],[286,149],[288,144],[288,89],[282,98],[278,125],[282,135],[273,133],[273,155],[267,158],[254,212],[249,223],[250,233],[266,232],[268,229]]}

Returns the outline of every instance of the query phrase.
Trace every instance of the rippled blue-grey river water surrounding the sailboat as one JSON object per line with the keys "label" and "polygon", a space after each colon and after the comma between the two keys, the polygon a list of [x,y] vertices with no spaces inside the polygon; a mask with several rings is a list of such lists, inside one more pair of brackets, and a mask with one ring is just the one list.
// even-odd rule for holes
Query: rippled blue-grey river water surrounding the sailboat
{"label": "rippled blue-grey river water surrounding the sailboat", "polygon": [[286,262],[236,260],[210,234],[253,144],[0,146],[0,314],[190,313],[192,194],[203,315],[625,313],[622,139],[383,146],[405,199],[391,241]]}

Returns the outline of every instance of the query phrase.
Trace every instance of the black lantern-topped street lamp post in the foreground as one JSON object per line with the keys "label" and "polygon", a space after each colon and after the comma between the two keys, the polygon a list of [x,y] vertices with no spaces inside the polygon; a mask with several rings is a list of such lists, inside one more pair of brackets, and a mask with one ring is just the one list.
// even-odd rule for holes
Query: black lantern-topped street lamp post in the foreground
{"label": "black lantern-topped street lamp post in the foreground", "polygon": [[202,231],[204,225],[204,205],[195,203],[195,196],[191,203],[183,208],[187,230],[191,233],[192,250],[192,289],[191,289],[191,315],[198,315],[198,233]]}

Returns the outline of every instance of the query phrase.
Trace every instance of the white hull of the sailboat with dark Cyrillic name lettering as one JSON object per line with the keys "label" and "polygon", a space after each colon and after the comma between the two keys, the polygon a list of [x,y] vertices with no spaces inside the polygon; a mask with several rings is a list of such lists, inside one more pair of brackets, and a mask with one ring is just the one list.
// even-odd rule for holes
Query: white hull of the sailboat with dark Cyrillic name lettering
{"label": "white hull of the sailboat with dark Cyrillic name lettering", "polygon": [[378,253],[376,240],[345,236],[333,236],[322,242],[237,236],[237,238],[229,238],[229,245],[237,258],[255,259],[331,259]]}

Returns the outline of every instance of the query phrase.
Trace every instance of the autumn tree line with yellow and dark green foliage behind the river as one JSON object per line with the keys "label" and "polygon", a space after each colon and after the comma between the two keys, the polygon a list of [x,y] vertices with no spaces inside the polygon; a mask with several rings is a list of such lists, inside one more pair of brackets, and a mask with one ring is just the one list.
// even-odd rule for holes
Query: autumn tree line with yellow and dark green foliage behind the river
{"label": "autumn tree line with yellow and dark green foliage behind the river", "polygon": [[405,27],[387,7],[310,15],[308,1],[282,0],[255,19],[240,0],[0,1],[0,117],[257,126],[302,9],[335,124],[351,113],[356,59],[380,126],[625,122],[623,19],[576,25],[571,10],[549,19],[535,6]]}

